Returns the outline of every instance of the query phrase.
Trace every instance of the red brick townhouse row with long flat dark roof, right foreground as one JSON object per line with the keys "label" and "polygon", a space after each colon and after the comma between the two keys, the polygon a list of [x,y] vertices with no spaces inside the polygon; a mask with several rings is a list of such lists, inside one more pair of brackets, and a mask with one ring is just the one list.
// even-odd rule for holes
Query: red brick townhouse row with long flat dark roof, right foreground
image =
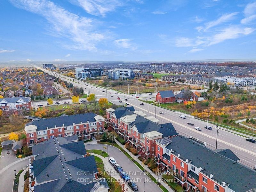
{"label": "red brick townhouse row with long flat dark roof, right foreground", "polygon": [[255,168],[238,163],[229,149],[213,151],[191,136],[156,140],[155,158],[186,191],[246,192],[256,188]]}

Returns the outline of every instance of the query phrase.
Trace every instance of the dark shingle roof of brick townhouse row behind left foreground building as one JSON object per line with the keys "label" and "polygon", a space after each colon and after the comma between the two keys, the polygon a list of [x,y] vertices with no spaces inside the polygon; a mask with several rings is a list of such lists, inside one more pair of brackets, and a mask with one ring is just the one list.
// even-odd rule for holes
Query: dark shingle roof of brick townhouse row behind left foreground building
{"label": "dark shingle roof of brick townhouse row behind left foreground building", "polygon": [[55,125],[57,127],[62,127],[63,124],[65,126],[72,126],[73,123],[80,124],[89,122],[95,122],[96,120],[94,117],[96,116],[95,113],[84,113],[84,114],[76,114],[76,115],[69,115],[69,116],[61,116],[61,117],[52,117],[47,119],[40,119],[36,121],[32,121],[26,124],[28,125],[36,125],[37,131],[45,130],[46,127],[53,128]]}

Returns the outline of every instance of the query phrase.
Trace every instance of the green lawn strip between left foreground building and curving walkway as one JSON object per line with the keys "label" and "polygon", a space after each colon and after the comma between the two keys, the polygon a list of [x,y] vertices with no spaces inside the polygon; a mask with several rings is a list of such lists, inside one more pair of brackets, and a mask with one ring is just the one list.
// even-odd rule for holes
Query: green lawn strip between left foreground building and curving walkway
{"label": "green lawn strip between left foreground building and curving walkway", "polygon": [[121,188],[120,184],[118,183],[118,181],[115,180],[113,177],[110,177],[108,175],[108,173],[105,172],[104,164],[103,164],[103,161],[100,159],[100,157],[94,156],[94,159],[96,161],[97,167],[102,172],[102,177],[106,178],[106,180],[108,182],[108,187],[110,188],[110,190],[113,191],[113,192],[122,191],[122,188]]}

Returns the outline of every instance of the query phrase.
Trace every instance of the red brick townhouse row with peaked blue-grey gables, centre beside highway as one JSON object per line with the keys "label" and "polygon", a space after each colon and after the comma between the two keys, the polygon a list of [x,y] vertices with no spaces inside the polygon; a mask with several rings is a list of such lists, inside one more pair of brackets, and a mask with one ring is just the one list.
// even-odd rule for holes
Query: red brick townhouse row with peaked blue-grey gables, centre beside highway
{"label": "red brick townhouse row with peaked blue-grey gables, centre beside highway", "polygon": [[130,142],[144,158],[152,157],[156,150],[156,139],[179,135],[171,123],[157,124],[153,116],[141,116],[143,112],[133,107],[107,109],[107,123],[126,142]]}

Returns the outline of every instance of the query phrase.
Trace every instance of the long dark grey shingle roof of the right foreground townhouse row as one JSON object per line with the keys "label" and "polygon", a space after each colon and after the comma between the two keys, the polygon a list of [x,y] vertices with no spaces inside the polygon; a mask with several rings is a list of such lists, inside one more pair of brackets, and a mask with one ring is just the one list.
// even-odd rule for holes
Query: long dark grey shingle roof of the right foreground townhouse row
{"label": "long dark grey shingle roof of the right foreground townhouse row", "polygon": [[180,154],[180,158],[184,161],[189,159],[196,167],[205,168],[202,172],[208,176],[213,174],[213,179],[220,184],[223,181],[229,183],[229,188],[234,191],[248,191],[256,188],[256,171],[193,140],[183,136],[173,137],[172,143],[166,148],[176,150],[174,154]]}

